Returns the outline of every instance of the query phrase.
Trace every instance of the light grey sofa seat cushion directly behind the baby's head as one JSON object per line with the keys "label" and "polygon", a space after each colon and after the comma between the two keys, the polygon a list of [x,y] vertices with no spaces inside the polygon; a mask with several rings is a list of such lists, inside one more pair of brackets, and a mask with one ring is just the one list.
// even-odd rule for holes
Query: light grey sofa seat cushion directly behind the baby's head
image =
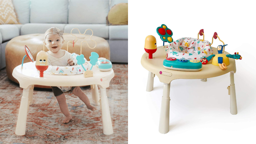
{"label": "light grey sofa seat cushion directly behind the baby's head", "polygon": [[21,27],[20,35],[44,34],[51,27],[64,30],[65,25],[66,24],[25,24]]}

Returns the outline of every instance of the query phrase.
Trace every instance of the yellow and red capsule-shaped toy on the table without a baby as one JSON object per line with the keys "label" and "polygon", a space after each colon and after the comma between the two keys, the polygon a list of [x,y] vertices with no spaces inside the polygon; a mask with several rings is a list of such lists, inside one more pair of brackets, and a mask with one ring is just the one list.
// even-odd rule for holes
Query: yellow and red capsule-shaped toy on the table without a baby
{"label": "yellow and red capsule-shaped toy on the table without a baby", "polygon": [[144,49],[148,53],[148,58],[152,59],[157,49],[155,36],[149,35],[146,37]]}

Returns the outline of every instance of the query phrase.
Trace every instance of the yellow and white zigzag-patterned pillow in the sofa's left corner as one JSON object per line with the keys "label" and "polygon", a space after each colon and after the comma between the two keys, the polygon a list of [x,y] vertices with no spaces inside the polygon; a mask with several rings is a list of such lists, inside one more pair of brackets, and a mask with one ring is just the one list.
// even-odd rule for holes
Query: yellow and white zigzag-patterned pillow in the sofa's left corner
{"label": "yellow and white zigzag-patterned pillow in the sofa's left corner", "polygon": [[16,18],[12,0],[0,0],[0,25],[20,24]]}

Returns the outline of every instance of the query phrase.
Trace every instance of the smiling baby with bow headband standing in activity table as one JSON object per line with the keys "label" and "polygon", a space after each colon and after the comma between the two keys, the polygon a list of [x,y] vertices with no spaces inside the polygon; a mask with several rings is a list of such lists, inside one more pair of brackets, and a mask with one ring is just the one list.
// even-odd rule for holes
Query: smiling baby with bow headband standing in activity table
{"label": "smiling baby with bow headband standing in activity table", "polygon": [[[74,59],[69,52],[66,50],[62,50],[61,47],[64,43],[64,39],[62,37],[63,31],[60,31],[56,27],[51,27],[45,32],[45,40],[44,44],[48,48],[48,63],[49,66],[73,66],[77,64],[77,60]],[[66,116],[63,120],[63,123],[68,123],[72,117],[69,113],[68,106],[66,104],[66,97],[63,91],[71,90],[72,93],[78,98],[80,98],[88,109],[94,111],[97,110],[96,107],[93,107],[90,104],[90,100],[86,96],[86,94],[81,90],[80,87],[51,87],[54,96],[57,98],[59,103],[59,108],[61,112]]]}

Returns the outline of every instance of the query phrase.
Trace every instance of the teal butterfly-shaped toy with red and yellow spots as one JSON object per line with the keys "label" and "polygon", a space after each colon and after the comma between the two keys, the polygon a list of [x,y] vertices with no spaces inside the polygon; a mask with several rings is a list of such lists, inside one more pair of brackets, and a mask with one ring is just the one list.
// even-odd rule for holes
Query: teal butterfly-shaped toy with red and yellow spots
{"label": "teal butterfly-shaped toy with red and yellow spots", "polygon": [[161,25],[160,27],[156,28],[156,32],[157,34],[161,37],[161,40],[164,42],[168,42],[171,43],[173,42],[173,38],[172,38],[172,30],[167,28],[166,25]]}

